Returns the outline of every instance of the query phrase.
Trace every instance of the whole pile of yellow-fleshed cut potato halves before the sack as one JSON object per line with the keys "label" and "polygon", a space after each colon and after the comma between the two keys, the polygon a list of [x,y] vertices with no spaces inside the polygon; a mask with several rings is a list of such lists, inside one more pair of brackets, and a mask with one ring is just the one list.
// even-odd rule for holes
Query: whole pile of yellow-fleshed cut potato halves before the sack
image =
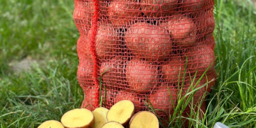
{"label": "whole pile of yellow-fleshed cut potato halves before the sack", "polygon": [[61,122],[47,120],[38,128],[159,128],[159,121],[149,111],[135,112],[130,100],[120,100],[110,109],[100,107],[93,111],[85,108],[72,109],[61,116]]}

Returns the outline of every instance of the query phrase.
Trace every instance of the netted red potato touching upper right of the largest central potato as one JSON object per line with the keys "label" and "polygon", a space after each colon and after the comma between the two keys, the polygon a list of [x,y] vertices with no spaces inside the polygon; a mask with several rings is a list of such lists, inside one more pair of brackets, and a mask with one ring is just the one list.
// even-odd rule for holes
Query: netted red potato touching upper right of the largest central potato
{"label": "netted red potato touching upper right of the largest central potato", "polygon": [[186,15],[175,13],[168,21],[168,31],[178,46],[190,46],[196,43],[196,24]]}

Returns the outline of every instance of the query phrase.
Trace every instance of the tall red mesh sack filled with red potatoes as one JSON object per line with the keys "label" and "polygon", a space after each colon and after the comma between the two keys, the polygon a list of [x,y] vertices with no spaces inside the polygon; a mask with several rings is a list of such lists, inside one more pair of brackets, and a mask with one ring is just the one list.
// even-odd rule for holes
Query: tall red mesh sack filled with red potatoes
{"label": "tall red mesh sack filled with red potatoes", "polygon": [[[191,77],[196,75],[198,81],[207,70],[198,86],[216,78],[214,0],[75,0],[75,4],[74,22],[81,34],[77,79],[85,94],[83,108],[97,107],[95,79],[100,76],[106,108],[131,100],[135,111],[145,111],[149,99],[155,109],[167,113],[177,104],[182,81],[184,95]],[[97,15],[95,4],[99,4]],[[214,84],[200,88],[195,102]],[[157,114],[164,115],[163,111]]]}

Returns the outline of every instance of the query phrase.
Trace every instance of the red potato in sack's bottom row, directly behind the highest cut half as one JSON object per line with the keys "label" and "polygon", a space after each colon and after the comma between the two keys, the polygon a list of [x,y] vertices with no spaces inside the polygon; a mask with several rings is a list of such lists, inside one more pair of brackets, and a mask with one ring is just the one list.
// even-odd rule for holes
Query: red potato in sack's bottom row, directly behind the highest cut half
{"label": "red potato in sack's bottom row, directly behind the highest cut half", "polygon": [[140,111],[143,108],[141,98],[136,93],[128,93],[128,92],[120,91],[116,94],[114,102],[116,103],[121,100],[130,100],[135,106],[135,111]]}

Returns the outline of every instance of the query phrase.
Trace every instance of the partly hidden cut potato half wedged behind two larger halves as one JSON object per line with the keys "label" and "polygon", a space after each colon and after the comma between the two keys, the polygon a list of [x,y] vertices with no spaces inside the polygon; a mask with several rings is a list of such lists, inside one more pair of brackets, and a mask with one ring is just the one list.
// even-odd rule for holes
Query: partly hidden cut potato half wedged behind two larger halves
{"label": "partly hidden cut potato half wedged behind two larger halves", "polygon": [[108,122],[107,120],[107,113],[108,109],[104,107],[96,108],[94,111],[92,111],[94,118],[95,118],[95,124],[93,128],[101,128],[104,124]]}

